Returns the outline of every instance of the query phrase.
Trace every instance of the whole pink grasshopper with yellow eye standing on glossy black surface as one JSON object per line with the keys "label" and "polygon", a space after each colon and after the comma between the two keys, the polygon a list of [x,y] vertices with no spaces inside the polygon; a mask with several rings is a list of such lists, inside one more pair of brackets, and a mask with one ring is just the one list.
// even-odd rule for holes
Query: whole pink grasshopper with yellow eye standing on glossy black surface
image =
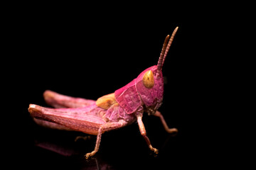
{"label": "whole pink grasshopper with yellow eye standing on glossy black surface", "polygon": [[164,79],[161,69],[177,30],[178,27],[175,28],[171,38],[169,35],[166,36],[157,65],[145,69],[136,79],[114,93],[93,101],[45,91],[43,96],[46,103],[55,108],[30,104],[29,113],[36,123],[48,128],[76,130],[97,135],[95,149],[85,154],[86,158],[92,157],[98,151],[103,132],[122,128],[137,120],[140,133],[149,149],[158,154],[158,149],[152,147],[146,136],[142,115],[144,112],[156,115],[167,132],[178,132],[176,128],[169,128],[163,115],[157,111],[164,95]]}

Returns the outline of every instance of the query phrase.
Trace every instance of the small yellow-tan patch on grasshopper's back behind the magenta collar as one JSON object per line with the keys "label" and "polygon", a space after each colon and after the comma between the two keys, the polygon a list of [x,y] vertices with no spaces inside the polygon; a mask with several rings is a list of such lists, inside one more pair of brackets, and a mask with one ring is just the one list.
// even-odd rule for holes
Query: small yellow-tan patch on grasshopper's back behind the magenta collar
{"label": "small yellow-tan patch on grasshopper's back behind the magenta collar", "polygon": [[112,104],[117,103],[113,94],[107,94],[105,96],[102,96],[97,99],[96,105],[99,106],[100,108],[105,108],[108,109]]}

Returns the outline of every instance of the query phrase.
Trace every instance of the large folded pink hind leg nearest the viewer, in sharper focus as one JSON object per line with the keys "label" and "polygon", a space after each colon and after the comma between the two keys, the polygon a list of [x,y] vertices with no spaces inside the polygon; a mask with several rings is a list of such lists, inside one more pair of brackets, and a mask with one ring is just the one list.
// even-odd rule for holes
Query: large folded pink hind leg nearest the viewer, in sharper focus
{"label": "large folded pink hind leg nearest the viewer, in sharper focus", "polygon": [[105,109],[96,105],[84,108],[44,108],[31,104],[28,111],[33,118],[47,120],[90,135],[97,135],[100,125],[106,123],[100,115]]}

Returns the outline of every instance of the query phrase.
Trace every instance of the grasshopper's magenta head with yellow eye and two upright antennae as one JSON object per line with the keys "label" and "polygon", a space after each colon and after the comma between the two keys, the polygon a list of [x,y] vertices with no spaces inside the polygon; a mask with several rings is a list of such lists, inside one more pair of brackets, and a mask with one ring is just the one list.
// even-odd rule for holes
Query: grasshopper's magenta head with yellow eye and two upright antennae
{"label": "grasshopper's magenta head with yellow eye and two upright antennae", "polygon": [[161,69],[177,30],[178,27],[175,28],[171,38],[169,35],[166,36],[157,65],[145,69],[136,79],[137,91],[149,114],[154,114],[163,101],[164,79]]}

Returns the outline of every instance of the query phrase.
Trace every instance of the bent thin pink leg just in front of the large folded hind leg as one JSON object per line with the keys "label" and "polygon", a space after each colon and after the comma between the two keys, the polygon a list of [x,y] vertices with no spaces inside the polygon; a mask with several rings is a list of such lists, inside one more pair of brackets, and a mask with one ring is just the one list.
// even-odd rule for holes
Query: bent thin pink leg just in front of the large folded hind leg
{"label": "bent thin pink leg just in front of the large folded hind leg", "polygon": [[106,132],[106,131],[109,131],[109,130],[118,129],[118,128],[122,128],[122,127],[124,127],[127,124],[128,123],[126,121],[119,120],[118,122],[106,123],[104,125],[101,125],[99,130],[98,130],[95,149],[92,152],[85,154],[85,158],[88,159],[89,157],[92,157],[99,150],[100,140],[101,140],[101,136],[102,136],[103,132]]}

